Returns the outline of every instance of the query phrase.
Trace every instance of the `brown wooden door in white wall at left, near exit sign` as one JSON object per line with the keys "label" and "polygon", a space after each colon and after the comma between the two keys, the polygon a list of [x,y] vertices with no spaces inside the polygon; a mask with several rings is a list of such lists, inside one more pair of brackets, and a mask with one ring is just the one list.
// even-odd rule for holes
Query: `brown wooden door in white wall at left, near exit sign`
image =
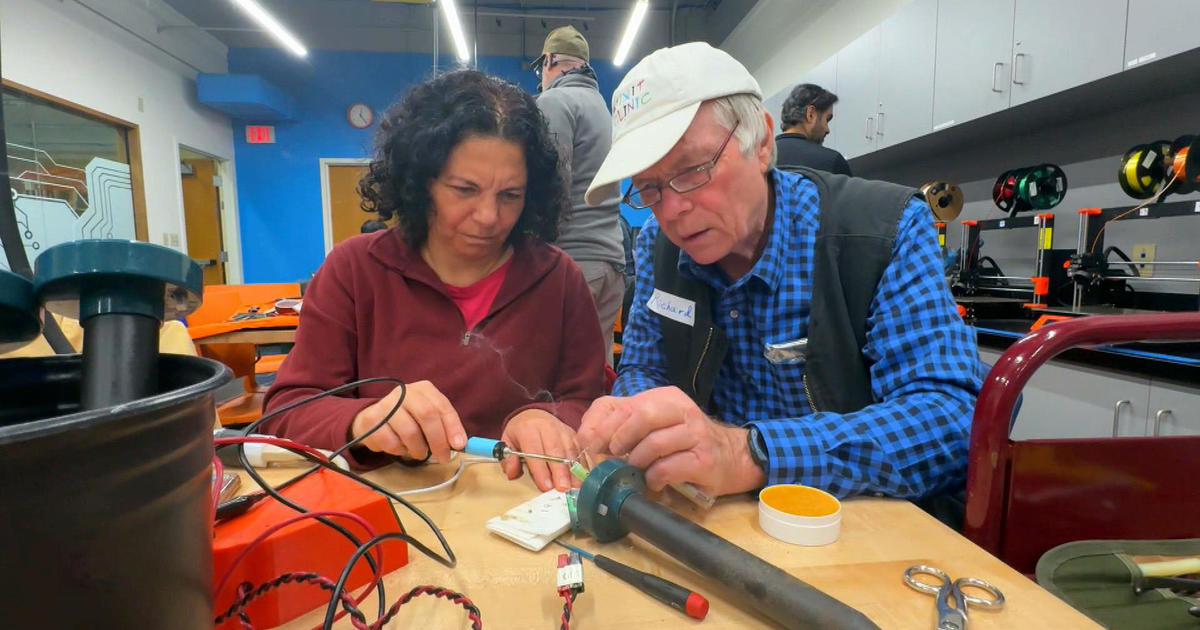
{"label": "brown wooden door in white wall at left, near exit sign", "polygon": [[182,160],[191,174],[181,173],[187,256],[200,264],[205,284],[224,284],[224,252],[221,248],[221,202],[215,184],[216,162]]}

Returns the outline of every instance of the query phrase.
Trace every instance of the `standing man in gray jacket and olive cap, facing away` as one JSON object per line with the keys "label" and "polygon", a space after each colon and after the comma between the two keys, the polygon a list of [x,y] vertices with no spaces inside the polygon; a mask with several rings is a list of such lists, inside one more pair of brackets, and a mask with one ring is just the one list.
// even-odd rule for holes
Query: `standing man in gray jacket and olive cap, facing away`
{"label": "standing man in gray jacket and olive cap, facing away", "polygon": [[[612,146],[612,118],[588,66],[588,42],[574,26],[550,31],[541,56],[530,65],[541,77],[538,108],[550,122],[571,182],[571,211],[559,227],[558,245],[583,271],[604,331],[608,365],[612,334],[625,292],[625,250],[618,217],[620,198],[590,206],[583,193]],[[530,174],[533,175],[533,174]]]}

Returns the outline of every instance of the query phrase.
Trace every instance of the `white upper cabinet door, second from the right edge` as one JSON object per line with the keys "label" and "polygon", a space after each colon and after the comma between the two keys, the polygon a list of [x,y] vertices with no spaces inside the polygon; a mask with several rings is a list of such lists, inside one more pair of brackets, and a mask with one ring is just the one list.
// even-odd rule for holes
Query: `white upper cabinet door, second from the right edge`
{"label": "white upper cabinet door, second from the right edge", "polygon": [[1016,0],[1018,106],[1121,72],[1128,0]]}

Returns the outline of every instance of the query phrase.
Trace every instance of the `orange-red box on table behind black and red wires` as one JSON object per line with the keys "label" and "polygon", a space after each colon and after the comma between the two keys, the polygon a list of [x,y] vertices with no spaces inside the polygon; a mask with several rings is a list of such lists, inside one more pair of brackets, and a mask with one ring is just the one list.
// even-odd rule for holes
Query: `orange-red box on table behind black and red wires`
{"label": "orange-red box on table behind black and red wires", "polygon": [[[299,470],[298,470],[299,473]],[[354,512],[371,523],[376,534],[396,532],[396,518],[388,508],[388,499],[378,492],[360,486],[342,475],[319,470],[282,494],[310,510],[341,510]],[[212,587],[228,570],[241,551],[266,528],[295,516],[298,512],[271,498],[265,498],[246,514],[220,523],[212,541]],[[370,536],[362,527],[348,518],[332,518],[359,540]],[[388,541],[383,548],[383,571],[391,572],[408,564],[408,546]],[[216,614],[234,602],[238,584],[250,582],[258,587],[290,571],[314,571],[336,581],[342,568],[354,553],[354,545],[344,536],[314,520],[293,523],[260,542],[241,560],[222,593],[216,594]],[[372,553],[373,556],[373,553]],[[348,587],[358,592],[371,578],[366,560],[359,560],[350,572]],[[258,628],[275,628],[296,617],[323,607],[329,592],[313,584],[284,584],[274,588],[246,606],[246,613]],[[240,628],[233,618],[218,625],[220,630]]]}

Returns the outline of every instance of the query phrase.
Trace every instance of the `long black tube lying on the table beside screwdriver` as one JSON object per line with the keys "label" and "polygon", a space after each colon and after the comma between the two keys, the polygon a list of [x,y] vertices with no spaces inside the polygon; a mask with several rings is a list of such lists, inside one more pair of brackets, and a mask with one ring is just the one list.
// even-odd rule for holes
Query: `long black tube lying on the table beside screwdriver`
{"label": "long black tube lying on the table beside screwdriver", "polygon": [[865,614],[640,493],[622,502],[622,527],[703,576],[739,592],[793,630],[878,630]]}

